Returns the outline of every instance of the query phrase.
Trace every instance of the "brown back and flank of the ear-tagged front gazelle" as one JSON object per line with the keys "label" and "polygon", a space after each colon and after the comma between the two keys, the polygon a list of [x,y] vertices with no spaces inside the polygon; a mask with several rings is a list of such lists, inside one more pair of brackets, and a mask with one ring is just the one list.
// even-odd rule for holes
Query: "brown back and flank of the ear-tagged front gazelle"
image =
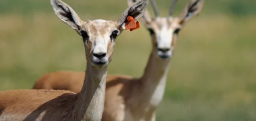
{"label": "brown back and flank of the ear-tagged front gazelle", "polygon": [[[77,96],[73,92],[9,90],[0,92],[0,97],[1,121],[21,121],[20,119],[22,121],[76,121],[77,119],[74,105]],[[15,115],[9,117],[11,114]]]}

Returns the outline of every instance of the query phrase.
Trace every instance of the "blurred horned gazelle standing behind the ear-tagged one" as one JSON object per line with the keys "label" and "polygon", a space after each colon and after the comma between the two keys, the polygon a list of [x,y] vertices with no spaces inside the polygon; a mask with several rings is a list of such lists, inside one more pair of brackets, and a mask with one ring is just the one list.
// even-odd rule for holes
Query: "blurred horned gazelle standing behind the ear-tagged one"
{"label": "blurred horned gazelle standing behind the ear-tagged one", "polygon": [[[204,0],[191,0],[179,17],[172,17],[171,5],[168,17],[159,17],[156,3],[151,0],[155,18],[148,13],[142,18],[143,25],[152,37],[152,52],[148,64],[140,78],[122,75],[106,77],[106,96],[103,121],[154,121],[156,108],[165,90],[169,62],[174,52],[177,35],[189,19],[200,13]],[[135,0],[128,0],[131,5]],[[67,89],[76,93],[81,90],[81,80],[85,73],[59,71],[41,77],[34,88]]]}

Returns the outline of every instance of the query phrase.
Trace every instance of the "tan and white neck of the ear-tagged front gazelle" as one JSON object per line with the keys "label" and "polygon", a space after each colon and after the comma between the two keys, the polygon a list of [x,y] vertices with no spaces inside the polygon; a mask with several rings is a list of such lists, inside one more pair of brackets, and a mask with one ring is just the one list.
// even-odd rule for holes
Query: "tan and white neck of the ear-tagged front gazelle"
{"label": "tan and white neck of the ear-tagged front gazelle", "polygon": [[[85,121],[100,121],[104,108],[107,67],[101,69],[87,62],[86,76],[76,108],[78,117]],[[83,121],[83,120],[82,120]]]}

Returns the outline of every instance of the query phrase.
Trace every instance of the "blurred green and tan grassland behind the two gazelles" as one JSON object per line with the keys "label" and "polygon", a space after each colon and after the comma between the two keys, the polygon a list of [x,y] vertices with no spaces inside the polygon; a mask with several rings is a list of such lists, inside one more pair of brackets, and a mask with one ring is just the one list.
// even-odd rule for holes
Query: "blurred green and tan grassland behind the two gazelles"
{"label": "blurred green and tan grassland behind the two gazelles", "polygon": [[[126,0],[63,0],[83,20],[116,20]],[[180,0],[178,15],[189,0]],[[171,0],[156,0],[166,17]],[[152,12],[152,7],[149,6]],[[256,0],[205,0],[180,31],[157,121],[256,121]],[[151,14],[153,16],[153,14]],[[118,38],[108,74],[142,75],[151,51],[141,27]],[[50,0],[0,0],[0,91],[29,89],[41,75],[85,70],[82,38]]]}

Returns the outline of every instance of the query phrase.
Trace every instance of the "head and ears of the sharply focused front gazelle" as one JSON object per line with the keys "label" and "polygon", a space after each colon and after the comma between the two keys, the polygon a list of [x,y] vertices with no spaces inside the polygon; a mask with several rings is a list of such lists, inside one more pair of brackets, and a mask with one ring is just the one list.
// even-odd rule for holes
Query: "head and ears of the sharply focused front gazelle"
{"label": "head and ears of the sharply focused front gazelle", "polygon": [[104,67],[111,62],[116,38],[125,29],[126,18],[131,16],[138,21],[148,6],[148,0],[132,4],[117,21],[98,19],[85,22],[61,0],[51,0],[51,5],[57,17],[82,36],[87,62],[95,67]]}

